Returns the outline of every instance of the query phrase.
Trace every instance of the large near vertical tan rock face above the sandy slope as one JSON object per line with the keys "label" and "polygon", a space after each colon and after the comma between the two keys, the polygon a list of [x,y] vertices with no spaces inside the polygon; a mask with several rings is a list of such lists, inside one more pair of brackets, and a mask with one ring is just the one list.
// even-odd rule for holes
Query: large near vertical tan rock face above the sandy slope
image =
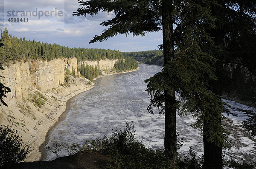
{"label": "large near vertical tan rock face above the sandy slope", "polygon": [[[67,64],[67,60],[68,63]],[[4,98],[8,105],[14,104],[15,99],[28,98],[28,90],[31,87],[44,92],[53,87],[58,87],[64,82],[65,67],[77,71],[76,58],[54,59],[49,62],[36,60],[29,62],[10,63],[8,67],[0,71],[4,76],[3,84],[10,87],[11,93]]]}

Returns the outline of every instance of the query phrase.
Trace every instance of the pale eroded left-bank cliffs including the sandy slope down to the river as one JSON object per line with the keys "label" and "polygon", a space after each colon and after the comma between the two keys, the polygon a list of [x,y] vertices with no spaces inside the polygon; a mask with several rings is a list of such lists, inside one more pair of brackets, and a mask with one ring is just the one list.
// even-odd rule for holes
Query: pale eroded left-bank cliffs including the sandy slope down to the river
{"label": "pale eroded left-bank cliffs including the sandy slope down to the river", "polygon": [[[102,70],[111,70],[115,62],[107,59],[85,63]],[[0,105],[0,124],[11,124],[12,129],[20,132],[23,142],[31,147],[26,161],[40,159],[39,146],[43,144],[49,127],[65,111],[66,101],[93,87],[93,82],[81,76],[70,76],[69,83],[64,83],[66,68],[76,72],[77,64],[76,58],[49,62],[16,61],[0,70],[0,75],[5,77],[0,79],[1,82],[11,88],[7,98],[3,98],[8,107]]]}

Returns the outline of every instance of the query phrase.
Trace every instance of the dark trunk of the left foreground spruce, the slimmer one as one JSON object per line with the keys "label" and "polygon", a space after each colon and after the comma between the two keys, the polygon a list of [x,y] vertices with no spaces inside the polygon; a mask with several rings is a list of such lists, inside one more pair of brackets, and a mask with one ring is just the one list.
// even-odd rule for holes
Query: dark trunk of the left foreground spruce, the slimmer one
{"label": "dark trunk of the left foreground spruce, the slimmer one", "polygon": [[[174,38],[173,38],[173,4],[172,0],[162,1],[162,22],[163,22],[163,56],[164,65],[174,59]],[[177,160],[177,135],[176,135],[176,99],[175,89],[164,91],[165,96],[165,136],[164,149],[171,163]]]}

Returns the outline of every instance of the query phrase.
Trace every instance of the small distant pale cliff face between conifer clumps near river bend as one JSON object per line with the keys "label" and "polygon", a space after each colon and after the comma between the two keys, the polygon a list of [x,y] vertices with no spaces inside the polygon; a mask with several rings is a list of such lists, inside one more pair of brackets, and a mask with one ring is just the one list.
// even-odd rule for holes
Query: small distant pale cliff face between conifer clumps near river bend
{"label": "small distant pale cliff face between conifer clumps near river bend", "polygon": [[95,61],[83,61],[79,62],[78,65],[81,65],[84,63],[85,65],[93,66],[94,68],[99,68],[100,70],[111,70],[114,68],[115,63],[118,61],[118,59],[110,60],[110,59],[104,59],[104,60],[95,60]]}

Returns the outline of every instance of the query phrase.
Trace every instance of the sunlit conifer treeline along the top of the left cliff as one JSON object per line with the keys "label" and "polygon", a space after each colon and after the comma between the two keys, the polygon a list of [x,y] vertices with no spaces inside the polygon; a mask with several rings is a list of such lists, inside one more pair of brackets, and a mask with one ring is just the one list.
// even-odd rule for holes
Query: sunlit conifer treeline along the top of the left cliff
{"label": "sunlit conifer treeline along the top of the left cliff", "polygon": [[8,34],[7,28],[1,30],[0,39],[0,62],[5,63],[11,60],[22,59],[43,59],[52,60],[55,58],[76,56],[78,61],[100,60],[100,59],[122,59],[123,55],[119,51],[106,49],[85,49],[68,48],[57,44],[48,44],[28,41],[24,37],[18,39]]}

